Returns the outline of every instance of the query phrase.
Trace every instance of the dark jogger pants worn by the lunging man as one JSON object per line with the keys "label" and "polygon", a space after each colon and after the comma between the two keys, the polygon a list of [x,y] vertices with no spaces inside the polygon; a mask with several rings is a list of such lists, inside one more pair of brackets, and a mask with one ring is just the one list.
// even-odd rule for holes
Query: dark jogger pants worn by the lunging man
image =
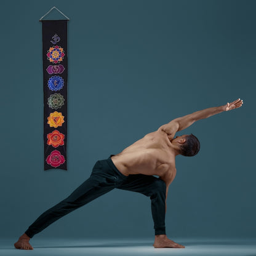
{"label": "dark jogger pants worn by the lunging man", "polygon": [[[166,234],[166,184],[150,175],[125,176],[114,166],[111,158],[96,162],[90,177],[82,183],[68,198],[46,210],[31,224],[25,233],[32,238],[51,223],[84,206],[105,193],[118,188],[145,194],[151,199],[151,212],[155,234]],[[134,209],[136,213],[136,209]],[[115,214],[118,214],[116,212]],[[134,227],[136,230],[136,227]]]}

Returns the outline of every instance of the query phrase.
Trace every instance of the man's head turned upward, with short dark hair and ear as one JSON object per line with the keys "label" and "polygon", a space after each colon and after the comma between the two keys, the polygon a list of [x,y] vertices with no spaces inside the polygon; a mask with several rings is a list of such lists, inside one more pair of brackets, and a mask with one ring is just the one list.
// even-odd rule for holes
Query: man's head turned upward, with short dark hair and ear
{"label": "man's head turned upward, with short dark hair and ear", "polygon": [[171,142],[178,146],[182,156],[195,156],[200,150],[200,142],[193,134],[177,136]]}

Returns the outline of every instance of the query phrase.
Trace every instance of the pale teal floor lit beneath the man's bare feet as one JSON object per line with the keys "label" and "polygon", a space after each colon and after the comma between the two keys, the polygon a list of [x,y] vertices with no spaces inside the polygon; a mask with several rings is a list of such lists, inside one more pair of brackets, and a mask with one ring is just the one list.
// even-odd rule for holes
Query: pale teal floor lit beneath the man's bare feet
{"label": "pale teal floor lit beneath the man's bare feet", "polygon": [[31,239],[34,250],[17,250],[15,239],[0,240],[0,255],[230,255],[256,256],[255,239],[176,238],[185,249],[154,249],[152,239]]}

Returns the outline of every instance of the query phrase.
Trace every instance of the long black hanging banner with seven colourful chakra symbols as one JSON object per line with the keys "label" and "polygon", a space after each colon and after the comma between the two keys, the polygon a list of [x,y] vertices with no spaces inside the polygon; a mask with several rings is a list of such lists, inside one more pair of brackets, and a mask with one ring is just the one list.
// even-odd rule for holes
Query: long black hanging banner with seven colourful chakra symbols
{"label": "long black hanging banner with seven colourful chakra symbols", "polygon": [[66,170],[67,22],[41,20],[44,74],[44,170]]}

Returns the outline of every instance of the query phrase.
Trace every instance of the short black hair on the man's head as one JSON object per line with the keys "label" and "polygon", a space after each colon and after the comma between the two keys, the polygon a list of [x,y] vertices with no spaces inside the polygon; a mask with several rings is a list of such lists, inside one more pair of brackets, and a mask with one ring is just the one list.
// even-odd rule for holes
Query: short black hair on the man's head
{"label": "short black hair on the man's head", "polygon": [[180,146],[182,156],[195,156],[200,150],[200,142],[193,134],[186,136],[186,142]]}

